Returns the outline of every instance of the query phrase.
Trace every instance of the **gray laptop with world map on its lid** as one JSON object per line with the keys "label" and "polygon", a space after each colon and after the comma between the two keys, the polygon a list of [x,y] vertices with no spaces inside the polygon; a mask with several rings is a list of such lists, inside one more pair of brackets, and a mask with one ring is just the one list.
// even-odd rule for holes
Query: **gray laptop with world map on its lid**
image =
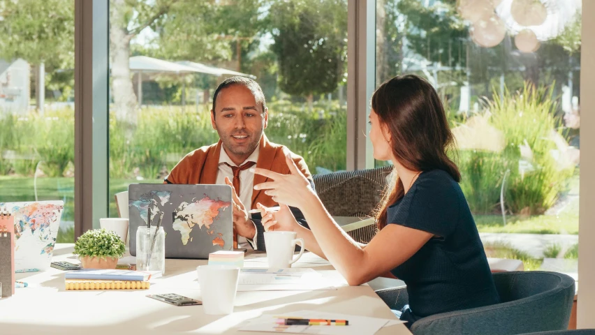
{"label": "gray laptop with world map on its lid", "polygon": [[136,255],[136,232],[156,226],[166,233],[166,258],[208,259],[215,251],[233,250],[233,202],[228,185],[131,184],[128,186],[130,253]]}

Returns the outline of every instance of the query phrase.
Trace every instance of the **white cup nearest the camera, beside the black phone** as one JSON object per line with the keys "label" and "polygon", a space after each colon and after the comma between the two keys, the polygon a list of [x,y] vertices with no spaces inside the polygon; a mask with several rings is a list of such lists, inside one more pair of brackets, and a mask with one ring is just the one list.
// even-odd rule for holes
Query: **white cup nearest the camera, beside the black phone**
{"label": "white cup nearest the camera, beside the black phone", "polygon": [[201,265],[196,271],[205,314],[233,313],[240,268],[228,265]]}

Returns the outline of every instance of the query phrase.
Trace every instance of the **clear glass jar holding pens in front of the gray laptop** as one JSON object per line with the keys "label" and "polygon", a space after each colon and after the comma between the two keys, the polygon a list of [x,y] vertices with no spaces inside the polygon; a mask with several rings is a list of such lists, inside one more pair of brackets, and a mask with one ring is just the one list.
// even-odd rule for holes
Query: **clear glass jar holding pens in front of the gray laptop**
{"label": "clear glass jar holding pens in front of the gray laptop", "polygon": [[136,230],[136,269],[166,271],[166,232],[163,227],[140,226]]}

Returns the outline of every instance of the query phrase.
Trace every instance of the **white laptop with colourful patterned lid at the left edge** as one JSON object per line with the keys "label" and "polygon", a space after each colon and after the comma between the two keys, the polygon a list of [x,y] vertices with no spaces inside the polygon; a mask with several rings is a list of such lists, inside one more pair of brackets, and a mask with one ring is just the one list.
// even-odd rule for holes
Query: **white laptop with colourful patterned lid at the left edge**
{"label": "white laptop with colourful patterned lid at the left edge", "polygon": [[43,271],[50,267],[64,202],[0,202],[15,217],[15,271]]}

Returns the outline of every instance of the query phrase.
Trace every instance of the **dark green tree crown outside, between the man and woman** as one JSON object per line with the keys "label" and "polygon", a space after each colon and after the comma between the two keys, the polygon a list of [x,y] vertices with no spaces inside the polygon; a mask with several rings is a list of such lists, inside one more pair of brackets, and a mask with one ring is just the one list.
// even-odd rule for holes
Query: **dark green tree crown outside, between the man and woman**
{"label": "dark green tree crown outside, between the man and woman", "polygon": [[275,1],[269,20],[272,51],[279,62],[279,87],[307,97],[337,89],[346,66],[345,0]]}

